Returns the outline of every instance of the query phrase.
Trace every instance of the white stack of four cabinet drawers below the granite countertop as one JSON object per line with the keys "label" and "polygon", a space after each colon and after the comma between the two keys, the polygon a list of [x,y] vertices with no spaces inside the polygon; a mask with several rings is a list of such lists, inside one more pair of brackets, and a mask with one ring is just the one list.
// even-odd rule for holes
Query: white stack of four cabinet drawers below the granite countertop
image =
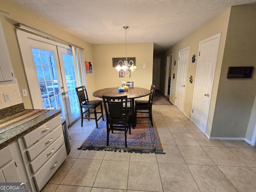
{"label": "white stack of four cabinet drawers below the granite countertop", "polygon": [[40,191],[67,157],[60,116],[22,136],[18,144],[31,191]]}

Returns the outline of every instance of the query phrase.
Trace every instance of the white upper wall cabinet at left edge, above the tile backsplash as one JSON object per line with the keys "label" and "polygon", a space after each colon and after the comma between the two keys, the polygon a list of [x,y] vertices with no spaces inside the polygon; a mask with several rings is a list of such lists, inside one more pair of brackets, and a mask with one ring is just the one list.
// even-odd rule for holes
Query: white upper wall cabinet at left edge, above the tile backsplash
{"label": "white upper wall cabinet at left edge, above the tile backsplash", "polygon": [[15,83],[12,63],[0,20],[0,84]]}

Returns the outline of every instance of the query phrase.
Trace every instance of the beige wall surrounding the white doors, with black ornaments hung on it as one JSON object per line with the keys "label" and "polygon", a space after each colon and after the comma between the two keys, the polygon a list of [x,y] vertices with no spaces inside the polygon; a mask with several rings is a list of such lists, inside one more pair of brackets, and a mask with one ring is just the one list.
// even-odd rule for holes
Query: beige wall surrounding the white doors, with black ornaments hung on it
{"label": "beige wall surrounding the white doors, with black ornaments hung on it", "polygon": [[[221,33],[220,48],[219,48],[216,73],[215,73],[215,82],[214,82],[214,87],[212,92],[212,101],[216,100],[216,93],[218,89],[218,78],[220,76],[220,68],[222,65],[222,58],[223,58],[224,45],[226,40],[226,32],[228,28],[229,14],[230,14],[230,9],[226,10],[225,12],[223,12],[222,14],[220,14],[210,22],[204,24],[202,27],[198,28],[196,31],[192,32],[190,35],[186,36],[184,39],[182,39],[180,42],[176,43],[174,46],[172,46],[166,51],[165,56],[170,56],[171,54],[173,54],[172,75],[175,74],[176,78],[175,79],[172,78],[172,81],[171,81],[170,100],[175,101],[179,51],[186,47],[190,48],[189,59],[188,59],[188,74],[186,77],[186,96],[185,96],[185,103],[184,103],[184,113],[189,118],[191,116],[191,111],[192,111],[199,42],[206,38],[214,36],[218,33]],[[194,54],[196,54],[196,62],[192,63],[192,56]],[[174,66],[175,60],[176,60],[176,65]],[[166,66],[166,60],[164,60],[163,63],[161,62],[161,65]],[[192,76],[194,80],[192,84],[190,84],[189,82],[190,76]],[[215,106],[215,102],[212,102],[210,106],[209,120],[212,119],[214,106]]]}

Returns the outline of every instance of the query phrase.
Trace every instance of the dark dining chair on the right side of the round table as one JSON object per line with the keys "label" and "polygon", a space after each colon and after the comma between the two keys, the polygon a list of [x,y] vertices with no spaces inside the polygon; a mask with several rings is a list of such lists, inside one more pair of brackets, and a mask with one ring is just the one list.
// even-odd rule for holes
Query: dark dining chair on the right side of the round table
{"label": "dark dining chair on the right side of the round table", "polygon": [[[149,118],[151,120],[151,126],[153,126],[152,120],[152,102],[155,94],[156,86],[151,85],[150,95],[148,101],[146,100],[136,100],[135,101],[135,127],[138,118]],[[137,113],[147,113],[148,117],[137,117]]]}

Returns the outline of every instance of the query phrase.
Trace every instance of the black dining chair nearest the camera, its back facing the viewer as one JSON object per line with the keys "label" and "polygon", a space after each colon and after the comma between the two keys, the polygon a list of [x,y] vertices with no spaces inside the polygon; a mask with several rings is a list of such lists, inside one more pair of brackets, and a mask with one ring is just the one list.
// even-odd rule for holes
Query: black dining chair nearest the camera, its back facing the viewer
{"label": "black dining chair nearest the camera, its back facing the viewer", "polygon": [[[126,96],[104,96],[102,95],[104,108],[106,112],[107,125],[107,146],[109,144],[110,131],[124,131],[125,147],[127,147],[127,131],[131,134],[131,111],[127,108]],[[125,104],[124,104],[125,103]]]}

